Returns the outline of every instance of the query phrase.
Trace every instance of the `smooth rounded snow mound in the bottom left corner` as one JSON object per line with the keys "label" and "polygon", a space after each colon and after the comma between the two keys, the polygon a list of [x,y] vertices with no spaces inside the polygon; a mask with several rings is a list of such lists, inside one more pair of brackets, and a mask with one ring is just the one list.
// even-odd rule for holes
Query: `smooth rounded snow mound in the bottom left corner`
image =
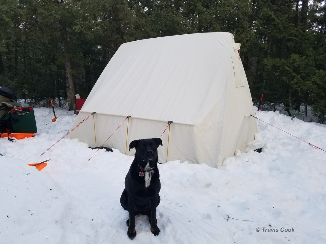
{"label": "smooth rounded snow mound in the bottom left corner", "polygon": [[71,199],[49,174],[0,157],[1,243],[60,243]]}

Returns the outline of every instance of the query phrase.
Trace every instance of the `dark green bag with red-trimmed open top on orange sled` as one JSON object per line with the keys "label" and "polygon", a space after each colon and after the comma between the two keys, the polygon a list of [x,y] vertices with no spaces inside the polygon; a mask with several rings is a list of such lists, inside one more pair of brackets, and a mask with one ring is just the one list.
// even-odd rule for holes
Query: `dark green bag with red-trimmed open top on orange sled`
{"label": "dark green bag with red-trimmed open top on orange sled", "polygon": [[33,108],[19,107],[11,109],[3,118],[8,121],[11,133],[36,133],[36,121]]}

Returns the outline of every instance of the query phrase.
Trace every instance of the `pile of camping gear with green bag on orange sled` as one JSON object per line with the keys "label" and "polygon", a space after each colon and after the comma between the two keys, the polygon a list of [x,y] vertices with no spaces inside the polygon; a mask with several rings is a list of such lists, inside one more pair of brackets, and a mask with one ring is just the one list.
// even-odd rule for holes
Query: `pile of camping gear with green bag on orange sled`
{"label": "pile of camping gear with green bag on orange sled", "polygon": [[1,137],[23,139],[33,137],[37,132],[33,108],[17,103],[15,93],[0,87],[0,134]]}

